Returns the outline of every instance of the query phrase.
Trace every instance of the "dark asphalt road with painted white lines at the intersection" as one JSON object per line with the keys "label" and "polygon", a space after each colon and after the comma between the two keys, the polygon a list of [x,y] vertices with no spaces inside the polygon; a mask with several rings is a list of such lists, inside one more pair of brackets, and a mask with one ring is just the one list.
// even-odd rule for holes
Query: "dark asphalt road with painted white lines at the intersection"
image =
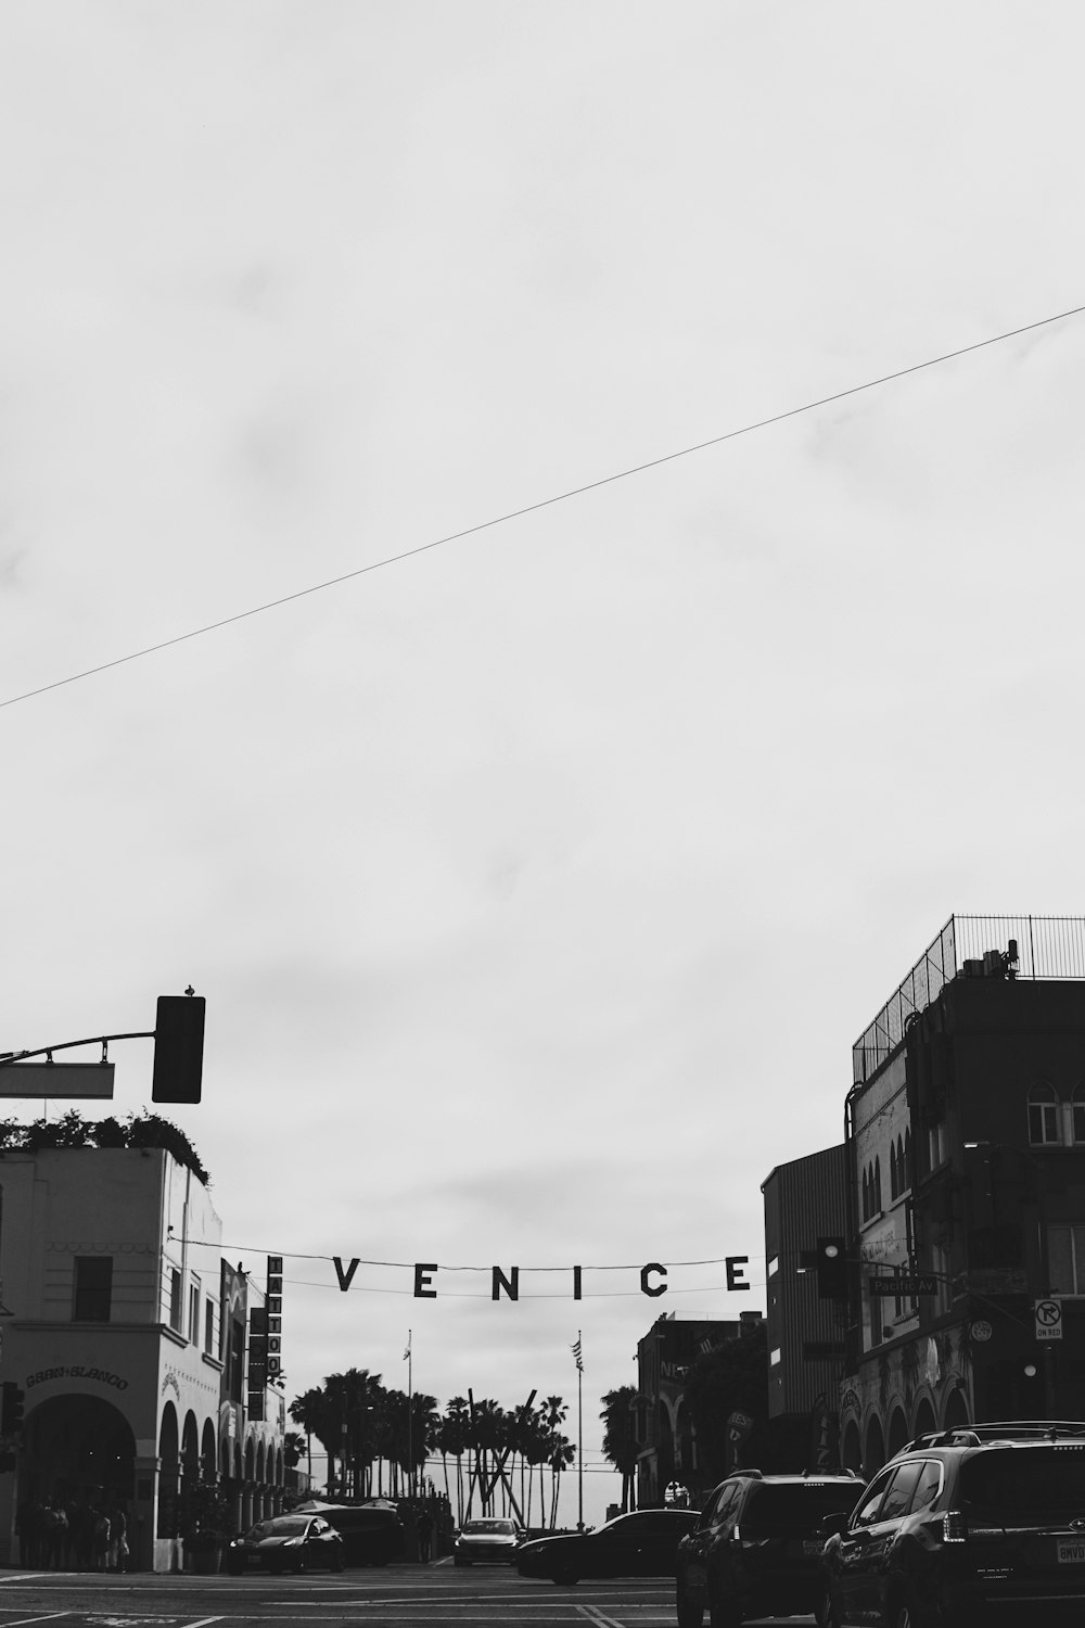
{"label": "dark asphalt road with painted white lines at the intersection", "polygon": [[[553,1582],[504,1566],[361,1568],[340,1576],[195,1578],[0,1571],[0,1628],[675,1628],[667,1578]],[[789,1617],[787,1623],[813,1618]]]}

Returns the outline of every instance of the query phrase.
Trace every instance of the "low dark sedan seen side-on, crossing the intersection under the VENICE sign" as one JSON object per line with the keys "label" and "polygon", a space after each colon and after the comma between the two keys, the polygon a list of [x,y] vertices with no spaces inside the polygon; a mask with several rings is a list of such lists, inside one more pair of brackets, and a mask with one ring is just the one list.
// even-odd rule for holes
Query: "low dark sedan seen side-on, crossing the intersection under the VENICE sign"
{"label": "low dark sedan seen side-on, crossing the intersection under the VENICE sign", "polygon": [[581,1578],[673,1578],[678,1540],[696,1521],[691,1509],[638,1509],[594,1532],[532,1538],[516,1551],[522,1578],[577,1582]]}

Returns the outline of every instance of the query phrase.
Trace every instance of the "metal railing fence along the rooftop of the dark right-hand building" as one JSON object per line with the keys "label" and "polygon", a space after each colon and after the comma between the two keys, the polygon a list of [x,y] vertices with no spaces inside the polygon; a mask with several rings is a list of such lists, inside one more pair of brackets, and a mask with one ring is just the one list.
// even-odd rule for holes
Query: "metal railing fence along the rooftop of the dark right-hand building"
{"label": "metal railing fence along the rooftop of the dark right-hand building", "polygon": [[1085,917],[952,915],[852,1045],[854,1084],[877,1073],[904,1039],[908,1021],[937,1000],[952,978],[971,972],[974,964],[983,969],[984,957],[1005,956],[1010,939],[1017,943],[1013,977],[1085,978]]}

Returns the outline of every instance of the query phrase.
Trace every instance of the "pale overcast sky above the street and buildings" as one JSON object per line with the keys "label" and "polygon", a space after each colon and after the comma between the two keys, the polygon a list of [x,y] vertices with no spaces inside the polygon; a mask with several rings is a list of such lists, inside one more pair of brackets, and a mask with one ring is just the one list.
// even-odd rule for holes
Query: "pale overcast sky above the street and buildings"
{"label": "pale overcast sky above the street and buildings", "polygon": [[760,1184],[945,918],[1080,908],[1085,316],[428,545],[1085,304],[1083,47],[3,7],[0,1044],[207,996],[176,1118],[291,1257],[288,1394],[413,1328],[441,1403],[573,1400],[582,1330],[597,1464],[656,1315],[763,1307]]}

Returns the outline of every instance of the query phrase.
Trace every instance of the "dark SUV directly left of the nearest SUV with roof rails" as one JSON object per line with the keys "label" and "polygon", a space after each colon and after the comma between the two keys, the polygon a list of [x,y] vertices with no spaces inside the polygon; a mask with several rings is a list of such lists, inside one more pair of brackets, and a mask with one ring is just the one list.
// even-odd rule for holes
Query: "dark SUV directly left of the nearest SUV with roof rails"
{"label": "dark SUV directly left of the nearest SUV with roof rails", "polygon": [[826,1516],[846,1517],[862,1493],[851,1472],[763,1475],[735,1470],[682,1538],[675,1566],[680,1628],[734,1628],[743,1618],[813,1612]]}

